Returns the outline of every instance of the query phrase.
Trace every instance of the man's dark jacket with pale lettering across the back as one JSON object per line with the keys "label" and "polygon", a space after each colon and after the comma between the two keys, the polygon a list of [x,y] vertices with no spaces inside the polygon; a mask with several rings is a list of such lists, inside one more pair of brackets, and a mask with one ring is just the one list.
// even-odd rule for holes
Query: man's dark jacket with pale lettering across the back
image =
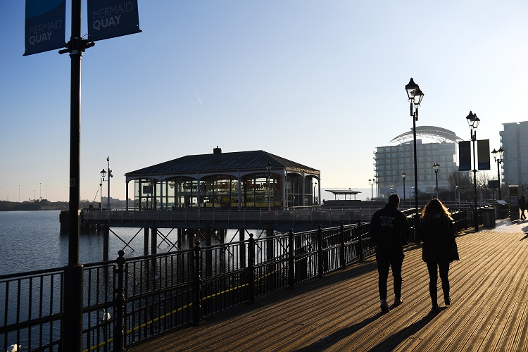
{"label": "man's dark jacket with pale lettering across the back", "polygon": [[401,250],[410,237],[409,222],[395,204],[387,203],[372,215],[369,234],[378,250]]}

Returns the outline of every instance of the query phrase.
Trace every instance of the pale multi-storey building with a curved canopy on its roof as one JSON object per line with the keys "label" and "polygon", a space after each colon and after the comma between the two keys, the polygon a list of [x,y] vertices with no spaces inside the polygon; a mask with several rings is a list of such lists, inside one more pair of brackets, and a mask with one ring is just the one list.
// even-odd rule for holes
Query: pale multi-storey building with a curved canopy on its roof
{"label": "pale multi-storey building with a curved canopy on its roof", "polygon": [[[441,127],[416,127],[416,136],[434,139],[437,142],[422,143],[416,140],[417,176],[419,192],[435,193],[436,176],[439,190],[448,190],[451,173],[458,171],[457,144],[462,140],[454,132]],[[401,199],[414,197],[414,138],[413,129],[391,140],[398,143],[391,146],[379,146],[374,153],[375,182],[377,196],[386,198],[393,193]],[[433,165],[438,163],[438,174]],[[405,173],[405,177],[402,174]],[[405,194],[403,194],[405,182]]]}

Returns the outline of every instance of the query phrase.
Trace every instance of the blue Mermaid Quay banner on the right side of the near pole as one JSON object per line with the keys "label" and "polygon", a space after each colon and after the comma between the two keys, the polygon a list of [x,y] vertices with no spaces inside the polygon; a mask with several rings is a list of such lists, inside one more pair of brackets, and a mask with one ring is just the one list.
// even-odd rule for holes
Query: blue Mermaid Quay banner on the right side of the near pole
{"label": "blue Mermaid Quay banner on the right side of the near pole", "polygon": [[139,33],[137,0],[88,0],[88,40]]}

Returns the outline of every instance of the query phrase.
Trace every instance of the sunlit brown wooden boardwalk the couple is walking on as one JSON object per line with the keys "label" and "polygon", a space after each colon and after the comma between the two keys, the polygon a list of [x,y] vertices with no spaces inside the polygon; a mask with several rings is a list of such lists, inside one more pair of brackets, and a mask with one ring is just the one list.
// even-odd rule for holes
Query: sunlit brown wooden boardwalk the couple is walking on
{"label": "sunlit brown wooden boardwalk the couple is walking on", "polygon": [[[403,304],[379,310],[374,258],[208,317],[130,351],[528,351],[528,222],[457,238],[451,306],[430,313],[421,246],[406,249]],[[389,275],[389,303],[392,301]]]}

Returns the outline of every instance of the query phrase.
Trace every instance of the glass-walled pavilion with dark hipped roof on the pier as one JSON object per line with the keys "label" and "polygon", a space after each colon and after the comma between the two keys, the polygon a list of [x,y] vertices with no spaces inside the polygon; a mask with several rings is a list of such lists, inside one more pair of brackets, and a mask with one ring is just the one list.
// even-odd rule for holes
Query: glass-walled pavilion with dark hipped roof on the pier
{"label": "glass-walled pavilion with dark hipped roof on the pier", "polygon": [[289,208],[320,199],[320,171],[266,151],[184,156],[125,174],[127,209]]}

